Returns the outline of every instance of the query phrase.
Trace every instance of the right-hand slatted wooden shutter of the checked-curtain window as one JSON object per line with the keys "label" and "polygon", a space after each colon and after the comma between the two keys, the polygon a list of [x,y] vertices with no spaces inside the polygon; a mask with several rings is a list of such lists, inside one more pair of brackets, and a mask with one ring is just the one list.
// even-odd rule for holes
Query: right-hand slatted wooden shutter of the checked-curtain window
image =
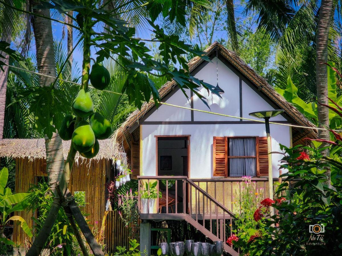
{"label": "right-hand slatted wooden shutter of the checked-curtain window", "polygon": [[257,176],[268,176],[267,137],[257,137]]}

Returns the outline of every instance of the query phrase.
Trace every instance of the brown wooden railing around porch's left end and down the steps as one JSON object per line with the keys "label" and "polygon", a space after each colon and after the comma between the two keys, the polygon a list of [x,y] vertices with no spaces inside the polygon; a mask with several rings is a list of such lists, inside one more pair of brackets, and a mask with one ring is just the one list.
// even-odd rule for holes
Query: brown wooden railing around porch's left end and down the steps
{"label": "brown wooden railing around porch's left end and down the steps", "polygon": [[[174,185],[169,187],[170,182],[174,182]],[[202,180],[194,181],[186,176],[138,176],[140,218],[183,219],[212,241],[226,241],[226,238],[232,235],[234,214],[208,193],[210,180],[204,181],[206,190],[201,187],[201,182]],[[152,188],[154,184],[156,187]],[[216,192],[216,185],[214,186]],[[161,198],[148,201],[148,198],[156,197],[156,191],[161,193]],[[227,244],[224,249],[231,255],[238,255],[238,252]]]}

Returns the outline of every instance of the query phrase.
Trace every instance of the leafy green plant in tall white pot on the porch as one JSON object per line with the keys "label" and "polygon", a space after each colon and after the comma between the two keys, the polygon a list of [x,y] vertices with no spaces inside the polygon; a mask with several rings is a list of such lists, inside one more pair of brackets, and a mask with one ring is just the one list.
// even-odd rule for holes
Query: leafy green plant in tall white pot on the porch
{"label": "leafy green plant in tall white pot on the porch", "polygon": [[142,204],[141,213],[152,213],[154,211],[156,199],[158,196],[161,198],[160,191],[157,191],[157,182],[150,182],[149,186],[148,183],[145,182],[145,187],[140,190],[140,195]]}

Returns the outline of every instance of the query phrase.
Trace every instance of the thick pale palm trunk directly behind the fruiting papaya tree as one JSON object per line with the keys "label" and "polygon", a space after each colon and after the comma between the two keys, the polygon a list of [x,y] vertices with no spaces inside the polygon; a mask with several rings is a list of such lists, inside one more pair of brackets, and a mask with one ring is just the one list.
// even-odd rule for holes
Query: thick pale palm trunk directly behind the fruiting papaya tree
{"label": "thick pale palm trunk directly behind the fruiting papaya tree", "polygon": [[[39,1],[34,0],[32,6],[34,7],[37,3]],[[50,17],[49,9],[33,8],[33,12]],[[32,27],[36,39],[38,71],[55,77],[57,74],[51,20],[34,16]],[[40,76],[40,86],[50,86],[53,81],[54,79],[50,77]],[[56,183],[60,180],[64,167],[62,139],[57,131],[53,133],[51,139],[45,136],[45,150],[49,185],[55,193]]]}

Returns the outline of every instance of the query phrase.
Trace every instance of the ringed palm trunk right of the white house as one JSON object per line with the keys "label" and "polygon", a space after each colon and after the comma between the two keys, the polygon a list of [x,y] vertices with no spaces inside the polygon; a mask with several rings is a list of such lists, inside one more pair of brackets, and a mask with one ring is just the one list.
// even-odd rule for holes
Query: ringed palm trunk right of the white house
{"label": "ringed palm trunk right of the white house", "polygon": [[[332,0],[322,0],[319,10],[319,20],[316,31],[316,87],[317,100],[321,104],[328,104],[328,38],[332,13]],[[326,106],[317,104],[318,123],[320,128],[329,127],[329,109]],[[318,131],[319,139],[329,140],[328,130]],[[326,146],[326,145],[323,145]],[[328,150],[322,152],[325,156]],[[329,171],[330,176],[330,171]]]}

